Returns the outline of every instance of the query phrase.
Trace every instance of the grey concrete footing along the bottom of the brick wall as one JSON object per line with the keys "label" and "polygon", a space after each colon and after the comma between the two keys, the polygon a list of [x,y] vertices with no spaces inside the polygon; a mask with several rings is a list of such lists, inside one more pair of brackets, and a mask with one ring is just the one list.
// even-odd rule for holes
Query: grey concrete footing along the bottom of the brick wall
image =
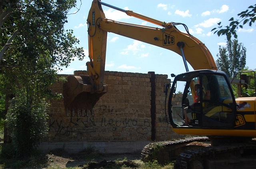
{"label": "grey concrete footing along the bottom of the brick wall", "polygon": [[48,153],[54,149],[65,149],[69,153],[78,153],[85,149],[94,149],[102,154],[138,153],[150,141],[81,141],[81,142],[42,142],[39,149]]}

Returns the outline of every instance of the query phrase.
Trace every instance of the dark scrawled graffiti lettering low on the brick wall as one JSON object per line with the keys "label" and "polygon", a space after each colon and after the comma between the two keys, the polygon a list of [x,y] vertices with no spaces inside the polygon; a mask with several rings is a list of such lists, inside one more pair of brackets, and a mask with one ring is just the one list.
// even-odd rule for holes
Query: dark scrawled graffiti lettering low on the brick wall
{"label": "dark scrawled graffiti lettering low on the brick wall", "polygon": [[[103,107],[103,112],[113,113],[116,112],[114,107]],[[95,113],[95,111],[94,111]],[[150,119],[142,119],[138,117],[124,117],[123,113],[113,113],[113,117],[104,117],[106,113],[102,114],[102,117],[96,118],[94,113],[87,111],[67,111],[64,117],[50,118],[50,132],[54,133],[55,137],[73,137],[81,139],[90,134],[104,130],[108,132],[120,132],[129,131],[132,135],[150,135],[151,123]],[[137,110],[129,112],[132,116],[138,114]],[[114,134],[113,134],[114,135]]]}

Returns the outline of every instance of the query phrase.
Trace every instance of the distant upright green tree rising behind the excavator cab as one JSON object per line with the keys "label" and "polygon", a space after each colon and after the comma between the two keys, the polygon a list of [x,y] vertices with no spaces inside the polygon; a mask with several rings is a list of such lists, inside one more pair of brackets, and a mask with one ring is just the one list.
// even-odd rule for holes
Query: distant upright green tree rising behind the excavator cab
{"label": "distant upright green tree rising behind the excavator cab", "polygon": [[237,39],[227,41],[226,47],[219,46],[216,66],[229,77],[234,77],[246,65],[246,48]]}

